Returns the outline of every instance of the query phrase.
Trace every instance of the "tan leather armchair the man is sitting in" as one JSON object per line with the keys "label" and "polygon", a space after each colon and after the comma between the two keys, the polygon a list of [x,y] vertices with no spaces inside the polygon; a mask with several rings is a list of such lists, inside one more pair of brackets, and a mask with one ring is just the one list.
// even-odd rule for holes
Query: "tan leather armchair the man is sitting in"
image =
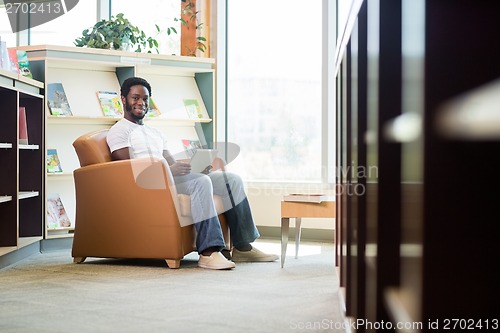
{"label": "tan leather armchair the man is sitting in", "polygon": [[[175,192],[162,160],[112,161],[106,134],[94,131],[73,143],[81,165],[74,171],[74,262],[87,257],[161,258],[168,267],[179,268],[180,260],[195,251],[195,229],[186,223],[189,196]],[[220,213],[220,198],[214,200]],[[219,219],[230,244],[225,218]]]}

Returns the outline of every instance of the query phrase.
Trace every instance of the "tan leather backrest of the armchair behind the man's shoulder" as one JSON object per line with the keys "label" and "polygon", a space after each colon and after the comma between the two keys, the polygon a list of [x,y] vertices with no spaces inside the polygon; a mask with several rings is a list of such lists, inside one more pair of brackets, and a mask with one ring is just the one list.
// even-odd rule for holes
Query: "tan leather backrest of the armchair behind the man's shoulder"
{"label": "tan leather backrest of the armchair behind the man's shoulder", "polygon": [[97,130],[78,137],[73,142],[80,166],[110,162],[111,152],[109,151],[106,135],[108,130]]}

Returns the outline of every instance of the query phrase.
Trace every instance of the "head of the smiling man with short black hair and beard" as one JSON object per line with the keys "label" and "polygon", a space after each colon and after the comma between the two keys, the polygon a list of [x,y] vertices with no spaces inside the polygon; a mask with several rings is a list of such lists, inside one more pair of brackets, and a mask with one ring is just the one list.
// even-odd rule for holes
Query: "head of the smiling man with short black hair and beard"
{"label": "head of the smiling man with short black hair and beard", "polygon": [[143,78],[130,77],[123,82],[120,92],[125,106],[125,119],[142,124],[148,112],[151,85]]}

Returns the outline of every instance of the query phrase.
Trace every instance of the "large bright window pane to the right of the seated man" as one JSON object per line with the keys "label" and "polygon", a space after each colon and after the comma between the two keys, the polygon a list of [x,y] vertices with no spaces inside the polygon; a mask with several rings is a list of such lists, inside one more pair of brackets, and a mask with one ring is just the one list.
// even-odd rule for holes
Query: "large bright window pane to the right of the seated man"
{"label": "large bright window pane to the right of the seated man", "polygon": [[228,0],[228,141],[246,181],[322,180],[321,8]]}

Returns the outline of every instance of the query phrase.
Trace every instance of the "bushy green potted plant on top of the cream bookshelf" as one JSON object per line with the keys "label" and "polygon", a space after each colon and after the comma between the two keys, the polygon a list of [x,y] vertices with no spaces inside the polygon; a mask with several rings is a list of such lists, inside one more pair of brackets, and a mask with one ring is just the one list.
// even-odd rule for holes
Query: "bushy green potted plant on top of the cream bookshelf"
{"label": "bushy green potted plant on top of the cream bookshelf", "polygon": [[[156,25],[159,32],[160,28]],[[147,37],[144,31],[130,23],[123,13],[101,20],[93,27],[83,30],[82,36],[75,39],[77,47],[96,49],[128,50],[135,52],[158,52],[158,41]]]}

